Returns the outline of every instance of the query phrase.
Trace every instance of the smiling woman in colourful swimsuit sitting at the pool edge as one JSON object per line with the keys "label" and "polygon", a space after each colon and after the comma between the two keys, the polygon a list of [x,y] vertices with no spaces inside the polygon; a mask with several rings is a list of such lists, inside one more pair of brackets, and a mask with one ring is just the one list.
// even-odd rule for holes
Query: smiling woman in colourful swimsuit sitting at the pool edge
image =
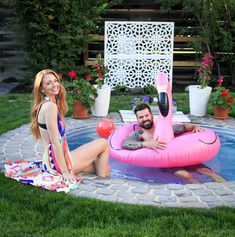
{"label": "smiling woman in colourful swimsuit sitting at the pool edge", "polygon": [[42,139],[46,146],[43,170],[51,174],[60,173],[65,181],[70,182],[74,182],[75,174],[80,172],[109,176],[107,140],[96,139],[69,151],[64,130],[64,116],[68,110],[66,91],[58,74],[49,69],[38,72],[33,92],[31,129],[34,137]]}

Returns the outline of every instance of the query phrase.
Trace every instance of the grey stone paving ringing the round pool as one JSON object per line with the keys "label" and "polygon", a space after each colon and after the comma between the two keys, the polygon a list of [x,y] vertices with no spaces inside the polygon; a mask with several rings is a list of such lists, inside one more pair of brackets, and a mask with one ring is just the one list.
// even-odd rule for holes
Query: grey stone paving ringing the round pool
{"label": "grey stone paving ringing the round pool", "polygon": [[[235,130],[235,119],[216,120],[212,116],[190,116],[192,123],[213,125]],[[106,118],[113,122],[122,122],[118,113],[110,113]],[[72,131],[96,127],[104,118],[91,117],[85,120],[66,118],[67,134]],[[29,124],[9,131],[0,136],[0,169],[6,160],[40,160],[42,143],[35,143]],[[96,175],[83,174],[83,183],[69,194],[76,197],[96,198],[105,201],[130,204],[149,204],[160,207],[199,207],[216,206],[235,207],[235,181],[224,183],[208,182],[204,184],[154,184],[139,181],[99,178]]]}

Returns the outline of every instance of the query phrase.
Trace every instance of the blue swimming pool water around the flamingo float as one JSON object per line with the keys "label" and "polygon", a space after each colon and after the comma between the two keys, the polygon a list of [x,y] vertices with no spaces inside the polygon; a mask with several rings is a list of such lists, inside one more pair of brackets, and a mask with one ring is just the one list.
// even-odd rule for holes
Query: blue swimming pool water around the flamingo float
{"label": "blue swimming pool water around the flamingo float", "polygon": [[[235,180],[235,131],[220,127],[206,127],[214,130],[221,141],[220,151],[212,160],[195,166],[165,169],[133,166],[110,158],[111,178],[129,179],[133,181],[139,180],[143,182],[162,184],[190,183],[187,178],[175,175],[175,172],[183,169],[189,172],[193,178],[198,180],[200,183],[216,181],[216,179],[211,178],[210,175],[198,172],[198,169],[200,168],[209,168],[208,170],[212,170],[228,181]],[[95,127],[77,130],[67,134],[70,150],[73,150],[84,143],[90,142],[95,138],[98,138]]]}

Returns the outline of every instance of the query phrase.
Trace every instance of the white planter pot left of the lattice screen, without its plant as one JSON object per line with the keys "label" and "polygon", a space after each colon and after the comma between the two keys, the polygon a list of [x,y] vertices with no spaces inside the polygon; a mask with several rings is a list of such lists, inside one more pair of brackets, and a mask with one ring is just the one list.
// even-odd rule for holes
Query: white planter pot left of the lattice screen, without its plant
{"label": "white planter pot left of the lattice screen, without its plant", "polygon": [[91,106],[91,112],[93,116],[105,117],[109,112],[111,87],[103,85],[101,89],[97,89],[97,93],[98,96],[95,99],[95,103]]}

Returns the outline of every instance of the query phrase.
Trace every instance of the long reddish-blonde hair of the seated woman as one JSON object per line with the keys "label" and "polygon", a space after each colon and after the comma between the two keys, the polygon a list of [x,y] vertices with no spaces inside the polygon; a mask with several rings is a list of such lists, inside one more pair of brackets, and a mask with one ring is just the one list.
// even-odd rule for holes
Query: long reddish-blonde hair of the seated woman
{"label": "long reddish-blonde hair of the seated woman", "polygon": [[41,92],[41,87],[42,87],[42,80],[44,76],[47,74],[54,75],[56,79],[58,80],[58,82],[60,83],[60,90],[57,95],[57,107],[58,107],[59,114],[64,118],[65,114],[68,111],[68,105],[66,103],[66,90],[60,82],[59,75],[50,69],[45,69],[38,72],[34,81],[34,88],[33,88],[34,101],[33,101],[33,106],[31,109],[31,118],[32,118],[31,130],[36,140],[41,138],[41,134],[39,131],[39,126],[38,126],[37,111],[39,109],[39,106],[45,100],[45,95]]}

